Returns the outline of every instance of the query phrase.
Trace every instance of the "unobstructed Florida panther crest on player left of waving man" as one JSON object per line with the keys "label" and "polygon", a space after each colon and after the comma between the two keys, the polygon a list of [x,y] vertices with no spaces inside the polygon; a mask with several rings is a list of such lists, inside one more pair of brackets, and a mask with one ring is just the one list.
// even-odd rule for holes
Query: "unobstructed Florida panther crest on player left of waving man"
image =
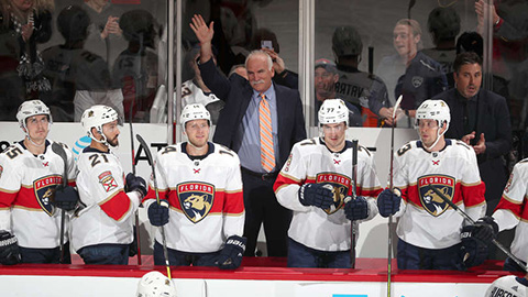
{"label": "unobstructed Florida panther crest on player left of waving man", "polygon": [[206,183],[184,183],[177,186],[179,205],[187,219],[197,223],[209,215],[215,201],[215,186]]}

